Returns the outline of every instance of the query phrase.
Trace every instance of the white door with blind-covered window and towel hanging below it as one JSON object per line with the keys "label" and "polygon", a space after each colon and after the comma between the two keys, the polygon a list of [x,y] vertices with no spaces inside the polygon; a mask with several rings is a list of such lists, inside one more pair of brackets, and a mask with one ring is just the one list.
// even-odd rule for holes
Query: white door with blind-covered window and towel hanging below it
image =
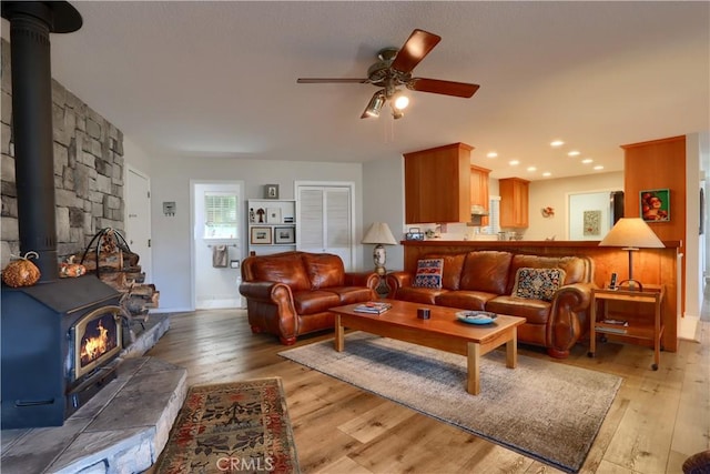
{"label": "white door with blind-covered window and towel hanging below it", "polygon": [[[241,270],[239,264],[243,259],[242,234],[246,219],[243,215],[242,181],[233,182],[192,182],[192,268],[193,295],[196,310],[242,307],[240,294]],[[225,200],[215,196],[225,198]],[[227,202],[231,196],[235,201],[234,225],[224,222],[211,222],[209,214],[215,210],[209,203]],[[231,202],[231,201],[230,201]],[[221,205],[221,204],[220,204]],[[225,211],[225,215],[226,215]],[[215,263],[215,251],[226,252],[226,266]],[[232,264],[232,262],[234,262]]]}

